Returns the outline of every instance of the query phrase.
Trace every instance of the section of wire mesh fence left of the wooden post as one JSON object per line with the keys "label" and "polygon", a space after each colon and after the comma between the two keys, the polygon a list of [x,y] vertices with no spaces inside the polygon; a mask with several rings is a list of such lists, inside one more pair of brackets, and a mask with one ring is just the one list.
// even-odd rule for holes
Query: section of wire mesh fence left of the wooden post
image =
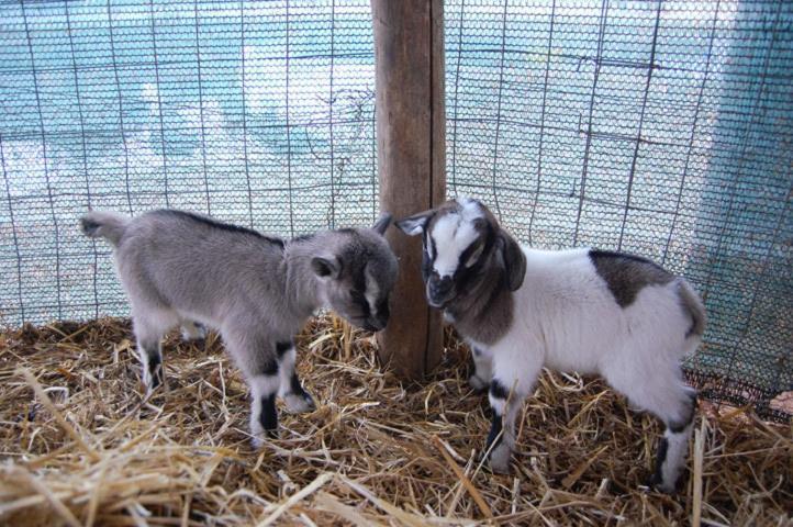
{"label": "section of wire mesh fence left of the wooden post", "polygon": [[[368,2],[0,3],[3,322],[125,314],[89,208],[291,236],[376,215]],[[96,269],[96,272],[94,272]]]}

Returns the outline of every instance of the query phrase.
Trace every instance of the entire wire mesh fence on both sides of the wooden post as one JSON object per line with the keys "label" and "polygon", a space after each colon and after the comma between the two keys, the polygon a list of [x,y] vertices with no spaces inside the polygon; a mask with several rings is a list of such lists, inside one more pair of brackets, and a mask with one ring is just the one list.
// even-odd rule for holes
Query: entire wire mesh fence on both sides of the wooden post
{"label": "entire wire mesh fence on both sides of the wooden post", "polygon": [[[367,0],[0,2],[0,317],[125,315],[89,208],[291,236],[377,214]],[[449,194],[640,254],[711,323],[706,396],[789,418],[793,4],[445,2]]]}

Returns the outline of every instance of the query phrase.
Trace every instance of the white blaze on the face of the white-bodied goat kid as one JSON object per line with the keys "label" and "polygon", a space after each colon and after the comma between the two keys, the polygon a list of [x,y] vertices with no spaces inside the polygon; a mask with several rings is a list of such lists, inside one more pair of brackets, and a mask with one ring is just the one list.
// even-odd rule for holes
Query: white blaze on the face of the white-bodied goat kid
{"label": "white blaze on the face of the white-bodied goat kid", "polygon": [[460,211],[439,217],[428,236],[437,251],[433,268],[439,277],[453,276],[460,262],[460,255],[479,237],[473,228],[473,220],[483,216],[481,209],[472,200],[458,200],[458,203],[461,205]]}

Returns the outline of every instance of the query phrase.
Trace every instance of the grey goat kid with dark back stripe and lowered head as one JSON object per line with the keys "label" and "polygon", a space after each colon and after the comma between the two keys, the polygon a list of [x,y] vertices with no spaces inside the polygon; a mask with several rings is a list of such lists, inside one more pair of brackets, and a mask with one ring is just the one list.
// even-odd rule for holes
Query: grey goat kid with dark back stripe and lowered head
{"label": "grey goat kid with dark back stripe and lowered head", "polygon": [[163,382],[166,332],[181,325],[194,338],[200,325],[216,328],[250,386],[255,442],[277,429],[277,394],[290,412],[314,408],[294,372],[293,336],[306,318],[328,307],[366,329],[388,323],[398,272],[382,236],[390,222],[386,214],[372,228],[283,240],[175,210],[81,220],[115,249],[147,391]]}

